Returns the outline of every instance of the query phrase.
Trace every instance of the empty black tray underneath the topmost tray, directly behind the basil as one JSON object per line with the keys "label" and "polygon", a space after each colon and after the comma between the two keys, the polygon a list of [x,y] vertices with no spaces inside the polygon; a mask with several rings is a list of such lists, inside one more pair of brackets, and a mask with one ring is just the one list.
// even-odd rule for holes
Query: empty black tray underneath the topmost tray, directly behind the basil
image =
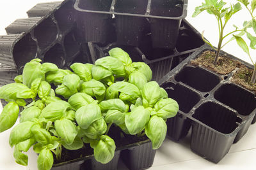
{"label": "empty black tray underneath the topmost tray, directly behind the basil", "polygon": [[[113,38],[113,36],[109,35]],[[191,26],[188,21],[182,20],[179,38],[174,50],[153,48],[150,41],[151,34],[143,37],[143,43],[140,46],[120,45],[114,43],[95,44],[88,43],[93,61],[108,55],[108,51],[114,47],[120,47],[129,53],[133,62],[147,63],[153,72],[152,80],[158,81],[171,69],[177,66],[182,60],[186,59],[197,48],[204,45],[201,35]],[[193,40],[193,43],[191,41]]]}

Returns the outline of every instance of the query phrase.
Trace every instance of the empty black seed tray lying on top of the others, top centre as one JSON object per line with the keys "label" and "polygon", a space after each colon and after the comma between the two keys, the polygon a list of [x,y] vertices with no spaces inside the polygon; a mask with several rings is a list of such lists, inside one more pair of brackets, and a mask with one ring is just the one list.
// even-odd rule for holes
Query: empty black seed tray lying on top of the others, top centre
{"label": "empty black seed tray lying on top of the others, top centre", "polygon": [[138,46],[149,30],[152,46],[168,49],[176,45],[187,6],[188,0],[76,0],[74,4],[86,42],[105,43],[115,29],[118,44]]}

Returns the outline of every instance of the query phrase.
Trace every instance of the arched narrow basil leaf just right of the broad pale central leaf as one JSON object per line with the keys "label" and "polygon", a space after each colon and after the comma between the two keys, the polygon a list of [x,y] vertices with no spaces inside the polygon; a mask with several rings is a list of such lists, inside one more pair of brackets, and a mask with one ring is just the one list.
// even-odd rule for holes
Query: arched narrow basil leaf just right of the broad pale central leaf
{"label": "arched narrow basil leaf just right of the broad pale central leaf", "polygon": [[109,99],[102,101],[100,102],[99,106],[102,113],[108,110],[119,110],[121,112],[125,112],[126,110],[125,103],[120,99]]}

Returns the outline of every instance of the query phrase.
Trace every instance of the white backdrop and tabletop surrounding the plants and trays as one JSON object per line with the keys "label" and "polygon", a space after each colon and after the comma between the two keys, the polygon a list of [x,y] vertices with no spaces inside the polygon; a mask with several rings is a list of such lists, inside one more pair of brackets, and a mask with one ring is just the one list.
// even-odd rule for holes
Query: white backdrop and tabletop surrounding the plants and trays
{"label": "white backdrop and tabletop surrounding the plants and trays", "polygon": [[[0,35],[6,34],[4,28],[11,24],[17,18],[26,18],[26,11],[35,6],[37,3],[51,2],[52,0],[1,0],[0,1]],[[195,9],[195,6],[199,6],[202,0],[189,0],[188,4],[188,17],[186,19],[196,28],[198,31],[205,31],[205,38],[212,42],[214,46],[218,43],[218,27],[216,18],[207,14],[201,13],[196,18],[192,18],[191,15]],[[236,3],[231,0],[228,3]],[[249,18],[249,19],[247,19]],[[250,16],[247,11],[239,12],[230,20],[227,25],[226,32],[233,30],[232,24],[239,27],[243,24],[244,20],[250,20]],[[192,40],[191,40],[192,41]],[[228,53],[235,55],[247,62],[250,59],[236,45],[236,42],[228,44],[223,48]],[[253,60],[256,59],[256,50],[251,50]],[[189,148],[189,136],[182,143],[173,143],[166,139],[163,146],[157,150],[154,164],[150,169],[256,169],[256,125],[251,125],[246,135],[236,144],[232,145],[230,152],[221,160],[218,164],[213,164],[202,157],[199,157],[195,153],[191,152]],[[28,167],[19,166],[13,159],[13,149],[8,145],[8,136],[10,130],[2,132],[0,134],[0,169],[4,170],[19,170],[29,169]],[[36,170],[36,155],[29,152],[30,169]],[[32,164],[34,162],[34,164]]]}

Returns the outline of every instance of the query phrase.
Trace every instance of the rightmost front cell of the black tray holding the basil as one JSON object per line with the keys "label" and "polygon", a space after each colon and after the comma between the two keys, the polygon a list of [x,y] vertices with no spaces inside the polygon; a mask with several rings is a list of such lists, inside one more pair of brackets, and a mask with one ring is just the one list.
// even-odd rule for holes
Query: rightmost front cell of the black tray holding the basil
{"label": "rightmost front cell of the black tray holding the basil", "polygon": [[152,166],[156,150],[152,149],[152,143],[143,143],[122,150],[121,158],[124,164],[132,170],[147,169]]}

